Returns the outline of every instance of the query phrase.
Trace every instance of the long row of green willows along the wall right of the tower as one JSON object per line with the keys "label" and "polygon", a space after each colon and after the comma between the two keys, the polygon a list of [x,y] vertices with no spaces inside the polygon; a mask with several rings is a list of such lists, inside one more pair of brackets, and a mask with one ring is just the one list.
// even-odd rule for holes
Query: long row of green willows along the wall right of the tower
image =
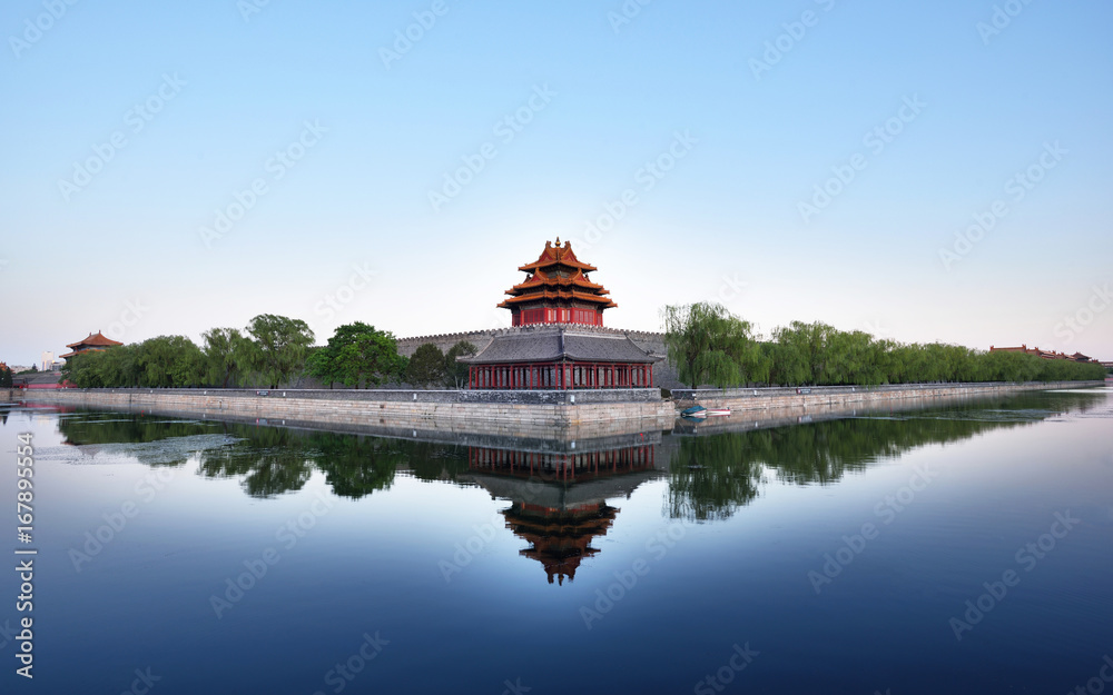
{"label": "long row of green willows along the wall right of the tower", "polygon": [[792,321],[761,340],[717,304],[667,306],[664,344],[681,381],[730,386],[877,386],[972,381],[1102,380],[1096,363],[1042,359],[943,342],[904,344],[861,330]]}

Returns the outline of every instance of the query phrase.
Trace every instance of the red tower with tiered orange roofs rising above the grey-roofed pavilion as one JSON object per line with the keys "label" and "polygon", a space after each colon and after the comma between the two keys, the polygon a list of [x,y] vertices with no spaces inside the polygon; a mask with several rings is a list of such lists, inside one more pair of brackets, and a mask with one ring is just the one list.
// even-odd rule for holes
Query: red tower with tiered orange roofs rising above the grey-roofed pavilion
{"label": "red tower with tiered orange roofs rising above the grey-roofed pavilion", "polygon": [[602,285],[588,277],[597,268],[575,257],[571,241],[555,246],[545,241],[541,256],[519,267],[525,281],[506,290],[510,298],[499,307],[510,309],[514,326],[531,324],[603,325],[603,310],[617,307]]}

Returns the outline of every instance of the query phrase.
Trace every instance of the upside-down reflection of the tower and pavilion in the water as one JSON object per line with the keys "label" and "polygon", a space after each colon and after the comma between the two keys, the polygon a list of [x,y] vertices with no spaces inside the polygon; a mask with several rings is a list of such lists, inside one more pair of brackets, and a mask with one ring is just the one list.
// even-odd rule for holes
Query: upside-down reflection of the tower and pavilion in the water
{"label": "upside-down reflection of the tower and pavilion in the water", "polygon": [[506,528],[530,544],[519,554],[541,563],[550,584],[563,585],[599,553],[591,542],[613,525],[619,509],[607,499],[629,497],[656,477],[653,461],[647,443],[577,454],[472,447],[467,464],[479,485],[511,502],[502,512]]}

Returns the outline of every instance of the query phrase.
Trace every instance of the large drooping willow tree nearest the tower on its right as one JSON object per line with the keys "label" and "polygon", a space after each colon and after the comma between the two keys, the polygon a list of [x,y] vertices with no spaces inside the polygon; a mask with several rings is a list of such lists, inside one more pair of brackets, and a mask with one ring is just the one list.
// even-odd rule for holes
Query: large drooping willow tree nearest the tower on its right
{"label": "large drooping willow tree nearest the tower on its right", "polygon": [[722,305],[700,301],[667,306],[664,345],[669,365],[684,384],[738,386],[766,367],[749,321],[743,321]]}

